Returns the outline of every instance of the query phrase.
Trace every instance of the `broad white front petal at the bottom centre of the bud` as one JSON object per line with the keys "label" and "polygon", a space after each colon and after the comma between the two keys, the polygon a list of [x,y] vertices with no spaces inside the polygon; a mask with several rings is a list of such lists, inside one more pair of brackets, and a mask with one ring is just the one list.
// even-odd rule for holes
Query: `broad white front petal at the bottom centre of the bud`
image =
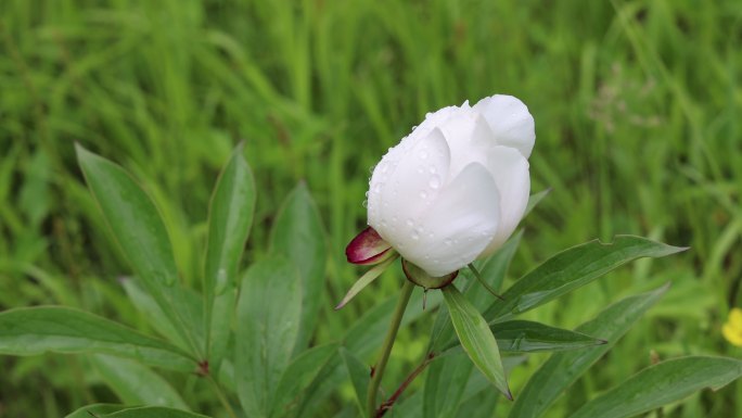
{"label": "broad white front petal at the bottom centre of the bud", "polygon": [[495,179],[478,163],[468,165],[414,225],[413,245],[402,257],[439,277],[474,261],[491,240],[499,223],[500,198]]}

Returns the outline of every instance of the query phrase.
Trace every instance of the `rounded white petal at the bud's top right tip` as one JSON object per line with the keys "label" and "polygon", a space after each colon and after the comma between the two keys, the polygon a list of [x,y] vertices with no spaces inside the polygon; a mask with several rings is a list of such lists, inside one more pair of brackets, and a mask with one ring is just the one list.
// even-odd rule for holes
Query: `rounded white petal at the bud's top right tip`
{"label": "rounded white petal at the bud's top right tip", "polygon": [[516,148],[526,159],[536,141],[534,117],[528,107],[512,96],[495,94],[473,107],[487,119],[498,144]]}

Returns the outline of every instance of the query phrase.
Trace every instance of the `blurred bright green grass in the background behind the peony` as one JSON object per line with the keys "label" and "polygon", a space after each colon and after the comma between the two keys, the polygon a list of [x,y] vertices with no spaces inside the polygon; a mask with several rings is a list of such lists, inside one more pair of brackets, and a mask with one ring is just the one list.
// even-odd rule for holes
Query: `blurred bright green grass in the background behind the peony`
{"label": "blurred bright green grass in the background behind the peony", "polygon": [[[426,112],[498,92],[529,106],[533,190],[553,188],[524,221],[511,278],[615,233],[692,246],[534,314],[574,326],[621,295],[674,281],[554,416],[647,366],[651,350],[739,357],[719,328],[742,305],[741,42],[733,0],[4,0],[0,308],[64,303],[146,329],[116,282],[129,269],[81,181],[74,142],[142,181],[183,280],[196,286],[210,188],[244,141],[259,188],[245,263],[264,252],[281,200],[305,180],[329,232],[317,340],[331,340],[398,286],[387,274],[343,312],[330,309],[359,274],[343,249],[364,224],[369,168]],[[396,355],[413,362],[426,332],[405,331]],[[515,393],[540,359],[513,372]],[[0,416],[62,416],[113,398],[84,359],[71,362],[0,358],[9,370]],[[207,405],[199,384],[177,388]],[[738,382],[673,416],[740,416],[740,400]]]}

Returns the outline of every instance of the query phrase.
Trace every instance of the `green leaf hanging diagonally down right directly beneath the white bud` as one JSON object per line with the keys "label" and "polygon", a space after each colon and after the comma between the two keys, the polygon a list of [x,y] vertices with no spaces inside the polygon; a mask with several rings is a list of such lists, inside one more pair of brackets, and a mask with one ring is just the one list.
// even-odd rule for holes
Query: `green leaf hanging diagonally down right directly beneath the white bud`
{"label": "green leaf hanging diagonally down right directly beneath the white bud", "polygon": [[451,316],[461,346],[472,363],[508,398],[512,400],[502,368],[497,341],[487,322],[466,297],[453,286],[443,289],[446,307]]}

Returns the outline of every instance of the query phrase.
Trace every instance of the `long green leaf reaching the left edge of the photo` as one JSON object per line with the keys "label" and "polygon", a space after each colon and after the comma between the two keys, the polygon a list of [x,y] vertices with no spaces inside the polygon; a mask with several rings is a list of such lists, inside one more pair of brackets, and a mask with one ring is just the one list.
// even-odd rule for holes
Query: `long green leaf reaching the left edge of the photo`
{"label": "long green leaf reaching the left edge of the photo", "polygon": [[46,352],[112,354],[181,371],[196,363],[175,345],[87,312],[43,306],[0,313],[1,354]]}

